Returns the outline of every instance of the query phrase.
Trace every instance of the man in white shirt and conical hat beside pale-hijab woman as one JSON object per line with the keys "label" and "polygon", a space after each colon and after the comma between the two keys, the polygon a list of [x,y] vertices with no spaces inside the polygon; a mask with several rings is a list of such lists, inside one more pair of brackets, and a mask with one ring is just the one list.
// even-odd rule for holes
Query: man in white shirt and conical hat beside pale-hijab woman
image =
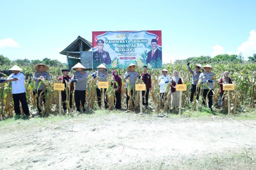
{"label": "man in white shirt and conical hat beside pale-hijab woman", "polygon": [[161,71],[162,75],[158,77],[158,85],[160,85],[160,99],[161,99],[161,108],[163,108],[163,96],[166,93],[167,90],[167,85],[170,81],[170,77],[167,75],[168,70],[163,69]]}

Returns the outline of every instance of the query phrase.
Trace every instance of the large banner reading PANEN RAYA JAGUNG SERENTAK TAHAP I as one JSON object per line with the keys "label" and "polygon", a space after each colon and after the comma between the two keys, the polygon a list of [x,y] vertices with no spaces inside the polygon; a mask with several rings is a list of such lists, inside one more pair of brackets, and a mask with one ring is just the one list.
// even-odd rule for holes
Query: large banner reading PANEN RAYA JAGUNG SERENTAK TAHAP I
{"label": "large banner reading PANEN RAYA JAGUNG SERENTAK TAHAP I", "polygon": [[143,68],[162,68],[161,31],[93,31],[93,69],[126,68],[131,63]]}

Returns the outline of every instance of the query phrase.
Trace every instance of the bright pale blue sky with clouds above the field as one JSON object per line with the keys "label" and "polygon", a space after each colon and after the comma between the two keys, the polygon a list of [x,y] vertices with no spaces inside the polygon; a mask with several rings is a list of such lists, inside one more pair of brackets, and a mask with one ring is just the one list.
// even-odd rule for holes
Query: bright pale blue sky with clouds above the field
{"label": "bright pale blue sky with clouds above the field", "polygon": [[162,30],[163,63],[256,54],[255,0],[0,0],[0,54],[58,59],[92,31]]}

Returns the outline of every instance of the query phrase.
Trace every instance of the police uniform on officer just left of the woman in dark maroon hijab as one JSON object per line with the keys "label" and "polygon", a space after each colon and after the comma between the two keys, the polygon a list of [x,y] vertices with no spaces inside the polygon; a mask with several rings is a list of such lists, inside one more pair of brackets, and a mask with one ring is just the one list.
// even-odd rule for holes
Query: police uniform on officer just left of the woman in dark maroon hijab
{"label": "police uniform on officer just left of the woman in dark maroon hijab", "polygon": [[[99,107],[101,107],[101,90],[98,88],[98,82],[107,82],[107,78],[108,78],[108,72],[107,71],[95,71],[94,73],[92,73],[92,75],[95,75],[96,77],[98,77],[98,80],[96,82],[96,92],[97,92],[97,101],[98,101],[98,105]],[[104,88],[104,91],[106,92],[106,88]],[[105,102],[105,107],[108,108],[108,100],[104,100]]]}

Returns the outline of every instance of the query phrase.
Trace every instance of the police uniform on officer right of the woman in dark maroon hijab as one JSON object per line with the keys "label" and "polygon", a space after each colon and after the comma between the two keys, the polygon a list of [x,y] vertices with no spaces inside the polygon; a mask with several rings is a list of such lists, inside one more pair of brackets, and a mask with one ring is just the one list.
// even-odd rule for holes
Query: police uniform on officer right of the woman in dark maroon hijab
{"label": "police uniform on officer right of the woman in dark maroon hijab", "polygon": [[[128,79],[128,76],[129,75],[129,79],[130,79],[130,83],[125,83],[125,87],[126,87],[126,106],[128,108],[128,101],[130,99],[130,97],[128,96],[128,85],[130,84],[131,85],[131,96],[133,96],[133,93],[134,93],[134,88],[135,88],[135,82],[136,82],[136,79],[139,77],[139,74],[136,72],[136,71],[126,71],[125,72],[125,77],[124,77],[124,80]],[[132,104],[134,105],[134,101],[132,101]]]}

